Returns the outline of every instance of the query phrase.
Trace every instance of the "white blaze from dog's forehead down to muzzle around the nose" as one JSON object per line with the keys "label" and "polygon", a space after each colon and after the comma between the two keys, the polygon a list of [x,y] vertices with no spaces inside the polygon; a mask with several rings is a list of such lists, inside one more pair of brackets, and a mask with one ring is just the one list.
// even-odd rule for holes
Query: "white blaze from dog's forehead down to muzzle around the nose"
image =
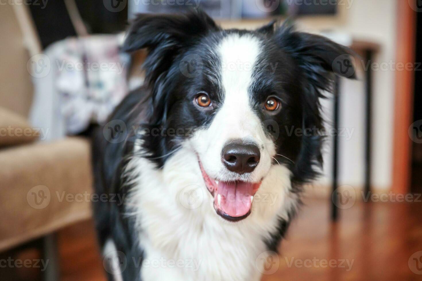
{"label": "white blaze from dog's forehead down to muzzle around the nose", "polygon": [[258,182],[271,168],[275,147],[266,139],[262,120],[251,107],[253,93],[249,93],[261,50],[262,41],[250,34],[230,34],[216,48],[221,62],[219,83],[223,97],[210,126],[196,131],[192,138],[192,145],[211,178],[233,179],[233,173],[224,166],[221,155],[225,144],[234,139],[253,142],[260,149],[260,163],[247,180]]}

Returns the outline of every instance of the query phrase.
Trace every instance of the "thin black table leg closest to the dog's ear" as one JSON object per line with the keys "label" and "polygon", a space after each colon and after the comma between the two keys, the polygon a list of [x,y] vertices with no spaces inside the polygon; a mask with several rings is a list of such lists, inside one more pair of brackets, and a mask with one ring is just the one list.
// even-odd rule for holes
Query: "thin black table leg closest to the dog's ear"
{"label": "thin black table leg closest to the dog's ear", "polygon": [[331,218],[335,221],[338,217],[337,201],[338,196],[334,194],[335,189],[338,184],[338,136],[337,130],[339,126],[339,100],[340,100],[340,78],[335,77],[334,84],[334,118],[333,118],[333,127],[335,128],[335,134],[333,137],[333,186],[332,186],[332,196],[331,196]]}

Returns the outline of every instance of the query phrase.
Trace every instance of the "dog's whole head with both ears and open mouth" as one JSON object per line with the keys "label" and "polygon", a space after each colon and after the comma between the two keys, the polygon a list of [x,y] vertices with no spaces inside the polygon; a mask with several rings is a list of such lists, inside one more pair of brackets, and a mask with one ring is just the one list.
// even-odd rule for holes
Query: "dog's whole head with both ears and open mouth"
{"label": "dog's whole head with both ears and open mouth", "polygon": [[149,126],[173,130],[145,142],[149,157],[160,167],[181,145],[192,149],[217,214],[247,217],[272,166],[287,167],[297,186],[316,176],[319,99],[333,72],[342,75],[347,48],[274,22],[222,30],[200,11],[139,15],[124,49],[141,48]]}

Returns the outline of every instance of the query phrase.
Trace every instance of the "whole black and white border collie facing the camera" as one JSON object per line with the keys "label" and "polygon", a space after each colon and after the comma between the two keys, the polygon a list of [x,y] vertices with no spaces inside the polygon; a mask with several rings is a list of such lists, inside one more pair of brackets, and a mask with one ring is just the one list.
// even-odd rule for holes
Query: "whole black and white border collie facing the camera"
{"label": "whole black and white border collie facing the camera", "polygon": [[121,199],[94,203],[109,278],[260,280],[318,175],[322,135],[304,130],[322,128],[319,99],[351,52],[201,11],[138,15],[123,49],[141,48],[145,85],[93,142],[95,192]]}

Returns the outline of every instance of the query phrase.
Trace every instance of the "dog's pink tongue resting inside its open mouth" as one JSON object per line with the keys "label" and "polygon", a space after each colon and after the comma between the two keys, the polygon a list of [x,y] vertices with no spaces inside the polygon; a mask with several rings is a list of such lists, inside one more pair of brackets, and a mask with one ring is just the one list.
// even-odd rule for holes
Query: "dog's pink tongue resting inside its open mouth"
{"label": "dog's pink tongue resting inside its open mouth", "polygon": [[230,217],[241,217],[251,209],[254,184],[219,182],[217,190],[218,194],[221,195],[221,209]]}

